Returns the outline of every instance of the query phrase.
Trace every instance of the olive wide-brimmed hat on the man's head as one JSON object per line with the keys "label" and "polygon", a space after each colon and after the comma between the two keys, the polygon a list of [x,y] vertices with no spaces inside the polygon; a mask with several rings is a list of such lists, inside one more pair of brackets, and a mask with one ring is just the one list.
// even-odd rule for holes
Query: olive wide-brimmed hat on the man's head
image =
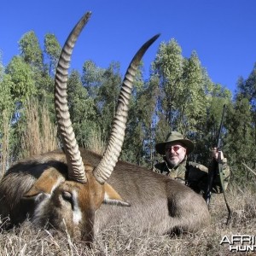
{"label": "olive wide-brimmed hat on the man's head", "polygon": [[164,143],[155,144],[155,150],[159,154],[166,154],[166,144],[174,142],[183,143],[184,147],[187,148],[187,154],[190,154],[195,148],[194,143],[192,143],[189,139],[184,138],[181,133],[178,131],[171,131],[167,135]]}

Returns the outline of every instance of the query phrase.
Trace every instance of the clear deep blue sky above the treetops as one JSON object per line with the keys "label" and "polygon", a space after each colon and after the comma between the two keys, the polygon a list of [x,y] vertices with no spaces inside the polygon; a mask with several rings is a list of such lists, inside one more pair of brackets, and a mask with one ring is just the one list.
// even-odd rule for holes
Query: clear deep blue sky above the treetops
{"label": "clear deep blue sky above the treetops", "polygon": [[0,7],[4,65],[19,54],[18,41],[25,32],[33,30],[42,45],[44,35],[54,33],[62,45],[88,10],[92,16],[71,64],[79,71],[90,59],[98,67],[119,61],[125,73],[137,49],[156,33],[161,33],[160,38],[143,57],[146,74],[160,42],[171,38],[184,57],[195,50],[212,82],[232,91],[240,76],[247,79],[256,62],[255,0],[9,0]]}

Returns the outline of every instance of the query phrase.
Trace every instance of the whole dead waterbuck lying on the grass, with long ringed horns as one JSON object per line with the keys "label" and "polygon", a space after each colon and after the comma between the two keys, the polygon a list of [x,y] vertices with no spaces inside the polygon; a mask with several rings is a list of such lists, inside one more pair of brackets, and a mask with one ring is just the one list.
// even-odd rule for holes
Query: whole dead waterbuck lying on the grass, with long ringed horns
{"label": "whole dead waterbuck lying on the grass, with long ringed horns", "polygon": [[[63,149],[20,160],[0,183],[0,214],[10,224],[30,218],[90,242],[99,230],[123,223],[155,234],[196,232],[209,224],[201,195],[181,183],[120,161],[128,102],[137,67],[159,35],[143,44],[123,81],[108,146],[103,155],[79,148],[67,108],[67,69],[73,46],[90,18],[86,13],[61,51],[55,75],[55,111]],[[107,183],[108,181],[108,183]]]}

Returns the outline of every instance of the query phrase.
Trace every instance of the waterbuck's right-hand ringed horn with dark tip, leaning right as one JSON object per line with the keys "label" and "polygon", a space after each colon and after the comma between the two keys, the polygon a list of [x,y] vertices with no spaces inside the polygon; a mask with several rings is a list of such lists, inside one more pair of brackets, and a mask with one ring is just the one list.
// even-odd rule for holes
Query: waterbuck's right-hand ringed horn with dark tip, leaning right
{"label": "waterbuck's right-hand ringed horn with dark tip, leaning right", "polygon": [[118,100],[118,108],[113,118],[113,126],[108,140],[108,146],[103,154],[103,158],[98,166],[94,170],[94,176],[99,183],[105,183],[113,172],[113,167],[116,165],[119,154],[121,152],[124,139],[125,139],[125,128],[127,115],[129,110],[129,101],[131,98],[131,90],[133,86],[133,79],[137,72],[137,67],[144,53],[148,47],[159,38],[160,34],[150,38],[148,42],[143,44],[141,49],[137,51],[137,54],[133,57],[123,81]]}

